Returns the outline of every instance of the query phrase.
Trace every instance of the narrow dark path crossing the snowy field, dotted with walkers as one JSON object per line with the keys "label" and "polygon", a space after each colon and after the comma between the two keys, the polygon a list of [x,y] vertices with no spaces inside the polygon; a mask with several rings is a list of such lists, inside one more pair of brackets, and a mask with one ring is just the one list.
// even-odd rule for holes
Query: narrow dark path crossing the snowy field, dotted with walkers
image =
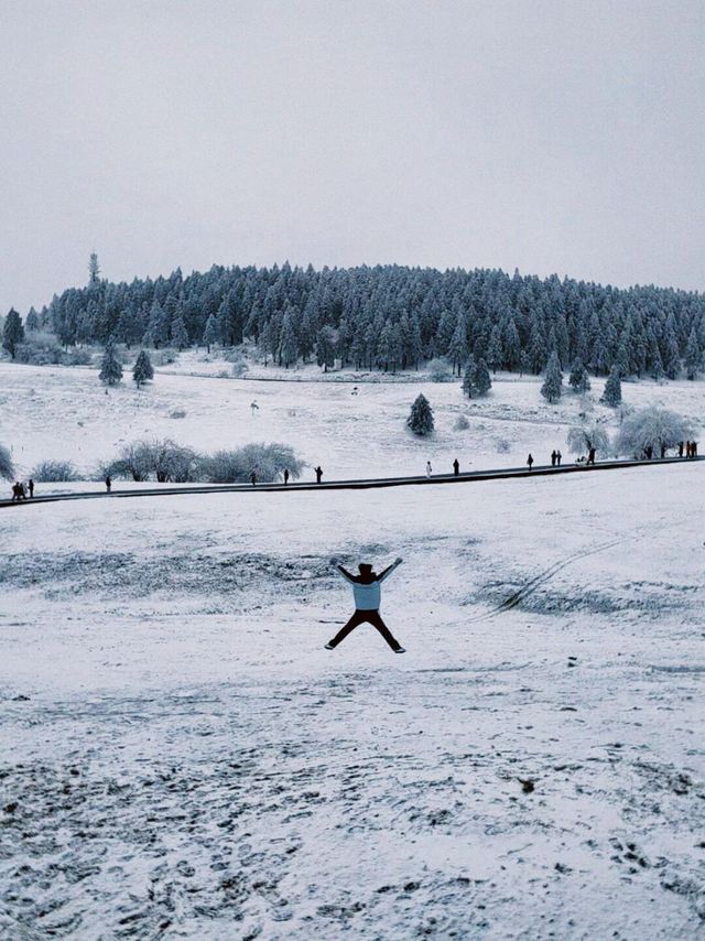
{"label": "narrow dark path crossing the snowy field, dotted with walkers", "polygon": [[[489,470],[471,470],[466,474],[433,474],[431,477],[369,477],[352,480],[327,480],[322,484],[313,482],[284,485],[281,482],[274,484],[197,484],[188,486],[175,487],[169,484],[161,484],[153,487],[139,490],[120,490],[113,486],[110,494],[105,490],[83,490],[79,493],[68,494],[41,494],[32,499],[12,501],[10,499],[0,500],[0,508],[4,507],[28,507],[32,504],[53,504],[59,500],[87,500],[87,499],[122,499],[124,497],[166,497],[180,496],[182,494],[260,494],[272,490],[369,490],[381,487],[406,487],[406,486],[435,486],[436,484],[470,484],[480,480],[503,480],[513,477],[549,477],[557,474],[593,474],[597,470],[621,470],[627,467],[654,467],[666,464],[694,464],[702,461],[702,457],[685,458],[685,457],[664,457],[653,458],[651,461],[601,461],[593,466],[584,464],[562,464],[560,467],[549,465],[538,466],[534,464],[533,470],[527,467],[503,467]],[[96,486],[100,486],[96,483]]]}

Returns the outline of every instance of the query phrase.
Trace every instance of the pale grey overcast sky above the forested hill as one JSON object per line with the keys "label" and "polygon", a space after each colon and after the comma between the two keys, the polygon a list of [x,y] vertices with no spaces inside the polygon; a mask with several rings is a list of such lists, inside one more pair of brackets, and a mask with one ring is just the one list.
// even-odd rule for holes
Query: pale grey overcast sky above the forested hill
{"label": "pale grey overcast sky above the forested hill", "polygon": [[705,0],[0,0],[0,311],[399,262],[705,289]]}

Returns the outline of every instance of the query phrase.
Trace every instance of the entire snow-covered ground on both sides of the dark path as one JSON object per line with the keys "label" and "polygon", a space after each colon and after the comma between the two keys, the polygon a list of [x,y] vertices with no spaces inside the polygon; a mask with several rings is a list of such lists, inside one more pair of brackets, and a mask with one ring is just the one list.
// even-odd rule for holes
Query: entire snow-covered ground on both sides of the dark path
{"label": "entire snow-covered ground on both sides of the dark path", "polygon": [[[2,365],[0,441],[29,468],[282,440],[330,478],[565,453],[579,408],[509,377],[481,403],[253,387]],[[431,448],[399,429],[419,388]],[[625,399],[697,418],[702,386]],[[699,937],[703,473],[0,511],[0,937]],[[330,558],[397,555],[408,652],[369,626],[324,650]]]}

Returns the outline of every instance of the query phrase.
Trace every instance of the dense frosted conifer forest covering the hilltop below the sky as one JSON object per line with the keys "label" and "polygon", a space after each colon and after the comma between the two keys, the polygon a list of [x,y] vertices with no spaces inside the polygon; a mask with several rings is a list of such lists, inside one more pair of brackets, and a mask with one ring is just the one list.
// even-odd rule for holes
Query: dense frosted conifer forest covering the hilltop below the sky
{"label": "dense frosted conifer forest covering the hilltop below the sky", "polygon": [[[8,315],[10,316],[10,315]],[[14,318],[13,318],[14,322]],[[7,326],[7,324],[6,324]],[[115,284],[99,278],[55,295],[24,326],[65,346],[109,338],[180,349],[253,340],[284,367],[314,357],[357,369],[413,369],[444,356],[459,376],[473,356],[489,369],[539,375],[555,353],[595,375],[695,378],[705,353],[705,298],[476,269],[366,266],[224,268]],[[14,329],[14,327],[13,327]],[[11,354],[12,355],[12,354]]]}

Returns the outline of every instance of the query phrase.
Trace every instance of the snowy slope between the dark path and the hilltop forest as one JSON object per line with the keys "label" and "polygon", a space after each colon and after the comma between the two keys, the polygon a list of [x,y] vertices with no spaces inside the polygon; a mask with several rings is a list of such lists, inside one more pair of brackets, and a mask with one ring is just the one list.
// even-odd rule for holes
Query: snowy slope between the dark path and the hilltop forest
{"label": "snowy slope between the dark path and the hilltop forest", "polygon": [[[90,476],[98,461],[143,437],[171,437],[200,451],[282,441],[310,465],[306,479],[314,478],[312,468],[321,464],[324,479],[330,480],[422,474],[427,459],[435,472],[449,473],[455,457],[464,470],[523,465],[529,452],[544,464],[555,447],[568,459],[567,429],[586,408],[581,397],[570,392],[557,405],[547,405],[535,377],[499,375],[492,394],[473,401],[462,394],[457,380],[359,382],[352,394],[355,386],[338,381],[335,374],[328,381],[302,382],[187,375],[188,369],[214,365],[202,363],[203,357],[184,355],[181,371],[158,371],[154,383],[141,391],[126,381],[107,393],[95,369],[0,363],[0,442],[12,447],[25,476],[47,458],[73,461]],[[260,374],[265,371],[259,368]],[[270,375],[284,374],[281,369]],[[311,369],[304,376],[322,378]],[[597,402],[603,386],[601,380],[593,381],[590,414],[614,431],[618,415]],[[435,411],[433,441],[415,439],[404,428],[420,391]],[[623,398],[632,407],[662,402],[686,414],[696,426],[702,423],[701,382],[625,383]],[[252,402],[257,410],[251,409]],[[173,417],[184,411],[185,417]],[[467,417],[467,430],[454,428],[459,415]]]}

